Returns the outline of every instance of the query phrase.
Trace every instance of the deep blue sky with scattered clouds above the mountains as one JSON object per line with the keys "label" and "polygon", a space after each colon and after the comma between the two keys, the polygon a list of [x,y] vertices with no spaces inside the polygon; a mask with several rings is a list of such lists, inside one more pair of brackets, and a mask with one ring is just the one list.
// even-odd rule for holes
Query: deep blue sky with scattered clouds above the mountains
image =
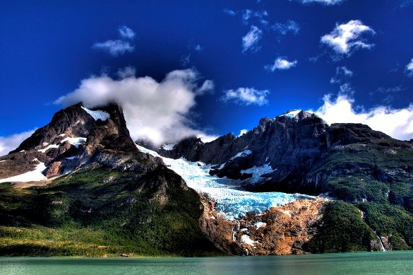
{"label": "deep blue sky with scattered clouds above the mountains", "polygon": [[[130,119],[179,129],[131,126],[159,142],[238,134],[289,109],[413,138],[412,15],[412,0],[3,1],[0,146],[101,85],[136,103]],[[145,76],[162,93],[129,98],[149,93]]]}

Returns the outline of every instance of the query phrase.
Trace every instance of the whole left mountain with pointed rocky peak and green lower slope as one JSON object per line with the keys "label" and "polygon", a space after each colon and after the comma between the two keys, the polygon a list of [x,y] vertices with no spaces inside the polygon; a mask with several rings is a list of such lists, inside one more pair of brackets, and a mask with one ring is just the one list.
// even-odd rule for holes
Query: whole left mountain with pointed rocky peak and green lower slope
{"label": "whole left mountain with pointed rocky peak and green lower slope", "polygon": [[138,151],[117,105],[67,107],[0,161],[1,255],[221,254],[198,194]]}

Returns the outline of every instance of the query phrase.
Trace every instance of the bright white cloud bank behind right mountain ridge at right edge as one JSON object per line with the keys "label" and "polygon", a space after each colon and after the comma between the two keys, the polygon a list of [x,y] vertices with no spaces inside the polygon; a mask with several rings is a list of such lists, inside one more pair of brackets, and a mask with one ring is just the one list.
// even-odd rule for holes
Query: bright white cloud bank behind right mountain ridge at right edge
{"label": "bright white cloud bank behind right mountain ridge at right edge", "polygon": [[354,110],[354,100],[348,95],[338,95],[335,100],[325,95],[323,100],[323,105],[315,113],[328,124],[362,123],[395,139],[413,139],[413,104],[402,109],[378,106],[357,112]]}

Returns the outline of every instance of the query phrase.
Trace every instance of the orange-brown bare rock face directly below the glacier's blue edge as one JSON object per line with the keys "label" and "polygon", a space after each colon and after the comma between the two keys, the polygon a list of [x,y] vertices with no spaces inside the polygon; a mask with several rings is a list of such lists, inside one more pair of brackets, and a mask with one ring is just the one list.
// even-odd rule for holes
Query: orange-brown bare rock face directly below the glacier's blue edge
{"label": "orange-brown bare rock face directly below the glacier's blue edge", "polygon": [[303,246],[318,233],[317,222],[326,199],[301,199],[263,213],[247,213],[236,221],[222,218],[213,202],[202,199],[201,229],[229,254],[304,254]]}

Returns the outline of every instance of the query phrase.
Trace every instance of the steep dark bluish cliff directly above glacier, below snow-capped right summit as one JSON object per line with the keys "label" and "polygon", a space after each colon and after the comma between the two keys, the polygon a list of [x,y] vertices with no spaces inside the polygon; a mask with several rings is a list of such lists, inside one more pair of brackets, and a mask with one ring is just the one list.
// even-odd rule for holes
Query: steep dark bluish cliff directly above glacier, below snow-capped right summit
{"label": "steep dark bluish cliff directly above glacier, below snow-capped right summit", "polygon": [[258,127],[238,138],[227,134],[208,144],[187,139],[170,151],[159,152],[163,156],[211,163],[215,165],[212,175],[236,180],[252,176],[243,170],[270,165],[273,171],[266,180],[263,178],[261,185],[251,187],[247,180],[247,189],[263,191],[274,189],[275,185],[293,189],[328,147],[327,131],[328,125],[320,117],[301,111],[294,117],[263,118]]}

